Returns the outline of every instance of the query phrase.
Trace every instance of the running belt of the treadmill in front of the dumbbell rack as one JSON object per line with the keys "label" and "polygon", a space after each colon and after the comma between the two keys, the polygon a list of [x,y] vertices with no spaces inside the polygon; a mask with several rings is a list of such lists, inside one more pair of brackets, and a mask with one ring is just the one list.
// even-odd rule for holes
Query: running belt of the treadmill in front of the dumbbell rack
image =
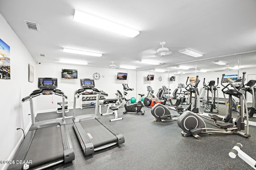
{"label": "running belt of the treadmill in front of the dumbbell rack", "polygon": [[94,148],[117,141],[117,137],[97,119],[81,121],[80,124],[92,141]]}

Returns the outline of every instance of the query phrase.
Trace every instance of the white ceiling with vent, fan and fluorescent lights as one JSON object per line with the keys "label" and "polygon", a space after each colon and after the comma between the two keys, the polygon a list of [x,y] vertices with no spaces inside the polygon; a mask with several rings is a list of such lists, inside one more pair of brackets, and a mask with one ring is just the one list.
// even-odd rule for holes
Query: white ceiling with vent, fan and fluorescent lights
{"label": "white ceiling with vent, fan and fluorescent lights", "polygon": [[[78,23],[72,20],[75,9],[140,34],[130,38]],[[238,55],[232,54],[256,51],[256,0],[0,0],[0,13],[34,59],[42,63],[83,61],[87,66],[109,68],[114,61],[137,70],[154,67],[138,62],[144,59],[194,70],[195,64],[190,62],[201,60],[196,62],[198,70],[223,70],[226,66],[212,61],[222,60],[233,67]],[[38,23],[40,31],[28,29],[24,20]],[[173,52],[162,59],[154,55],[161,41]],[[78,56],[64,53],[63,48],[103,55]],[[184,48],[204,56],[178,53]],[[232,56],[220,57],[226,55]],[[255,67],[255,56],[241,55],[242,65]]]}

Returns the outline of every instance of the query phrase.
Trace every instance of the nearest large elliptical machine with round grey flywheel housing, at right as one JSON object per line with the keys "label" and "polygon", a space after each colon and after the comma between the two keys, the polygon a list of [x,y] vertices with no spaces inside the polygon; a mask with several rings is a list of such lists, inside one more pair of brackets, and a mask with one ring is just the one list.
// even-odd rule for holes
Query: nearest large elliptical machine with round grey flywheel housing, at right
{"label": "nearest large elliptical machine with round grey flywheel housing, at right", "polygon": [[[198,113],[193,113],[191,111],[186,111],[180,117],[178,118],[178,126],[183,130],[181,134],[184,137],[188,136],[194,136],[196,139],[201,139],[199,134],[213,134],[213,133],[224,133],[224,134],[238,134],[242,137],[250,137],[249,134],[249,119],[248,119],[248,110],[244,109],[247,107],[245,96],[244,96],[244,90],[242,89],[244,80],[245,80],[245,74],[246,72],[243,72],[243,78],[242,78],[242,84],[239,86],[234,86],[234,84],[229,83],[226,86],[223,85],[223,79],[225,74],[222,74],[222,80],[221,84],[224,86],[222,88],[222,92],[224,94],[229,95],[229,100],[231,102],[232,96],[236,96],[240,98],[240,115],[236,118],[235,123],[233,123],[232,118],[232,106],[229,105],[229,113],[224,117],[224,120],[222,120],[222,117],[219,117],[217,115],[211,115],[211,119],[208,119]],[[224,95],[225,96],[225,95]],[[245,130],[245,123],[244,123],[244,110],[246,110],[246,133],[241,132],[241,130]],[[220,129],[213,129],[213,128],[207,128],[204,120],[207,119],[212,122],[214,122],[214,126],[217,125]],[[207,131],[212,130],[212,131]]]}

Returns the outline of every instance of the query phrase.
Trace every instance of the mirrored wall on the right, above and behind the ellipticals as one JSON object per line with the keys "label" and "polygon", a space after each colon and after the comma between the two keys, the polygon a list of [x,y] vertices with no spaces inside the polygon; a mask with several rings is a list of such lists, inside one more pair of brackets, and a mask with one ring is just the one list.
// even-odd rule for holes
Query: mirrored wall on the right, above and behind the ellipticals
{"label": "mirrored wall on the right, above and behind the ellipticals", "polygon": [[[198,59],[194,62],[177,63],[168,66],[157,66],[137,71],[137,93],[148,94],[147,86],[151,86],[156,95],[162,86],[170,90],[169,96],[178,87],[178,84],[186,86],[187,77],[196,77],[200,79],[198,88],[201,89],[205,78],[206,83],[211,80],[218,82],[219,98],[224,98],[221,92],[221,78],[225,75],[238,75],[242,77],[242,72],[246,72],[246,82],[250,79],[256,79],[256,53],[244,53],[227,55],[222,57],[213,57],[211,59]],[[222,65],[219,65],[222,64]],[[189,82],[188,82],[189,83]],[[250,96],[250,95],[248,95]],[[248,98],[248,102],[252,100]]]}

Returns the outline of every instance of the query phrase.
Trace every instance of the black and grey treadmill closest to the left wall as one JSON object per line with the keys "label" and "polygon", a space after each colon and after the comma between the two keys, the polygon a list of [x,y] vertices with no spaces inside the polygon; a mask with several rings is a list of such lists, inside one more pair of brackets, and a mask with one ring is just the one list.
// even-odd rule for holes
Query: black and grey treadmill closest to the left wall
{"label": "black and grey treadmill closest to the left wall", "polygon": [[65,103],[67,96],[56,89],[57,83],[57,78],[38,78],[39,89],[22,99],[22,102],[30,102],[32,125],[13,158],[14,164],[8,167],[9,170],[44,169],[74,160],[64,109],[62,119],[35,122],[32,98],[55,94],[62,97],[62,104]]}

